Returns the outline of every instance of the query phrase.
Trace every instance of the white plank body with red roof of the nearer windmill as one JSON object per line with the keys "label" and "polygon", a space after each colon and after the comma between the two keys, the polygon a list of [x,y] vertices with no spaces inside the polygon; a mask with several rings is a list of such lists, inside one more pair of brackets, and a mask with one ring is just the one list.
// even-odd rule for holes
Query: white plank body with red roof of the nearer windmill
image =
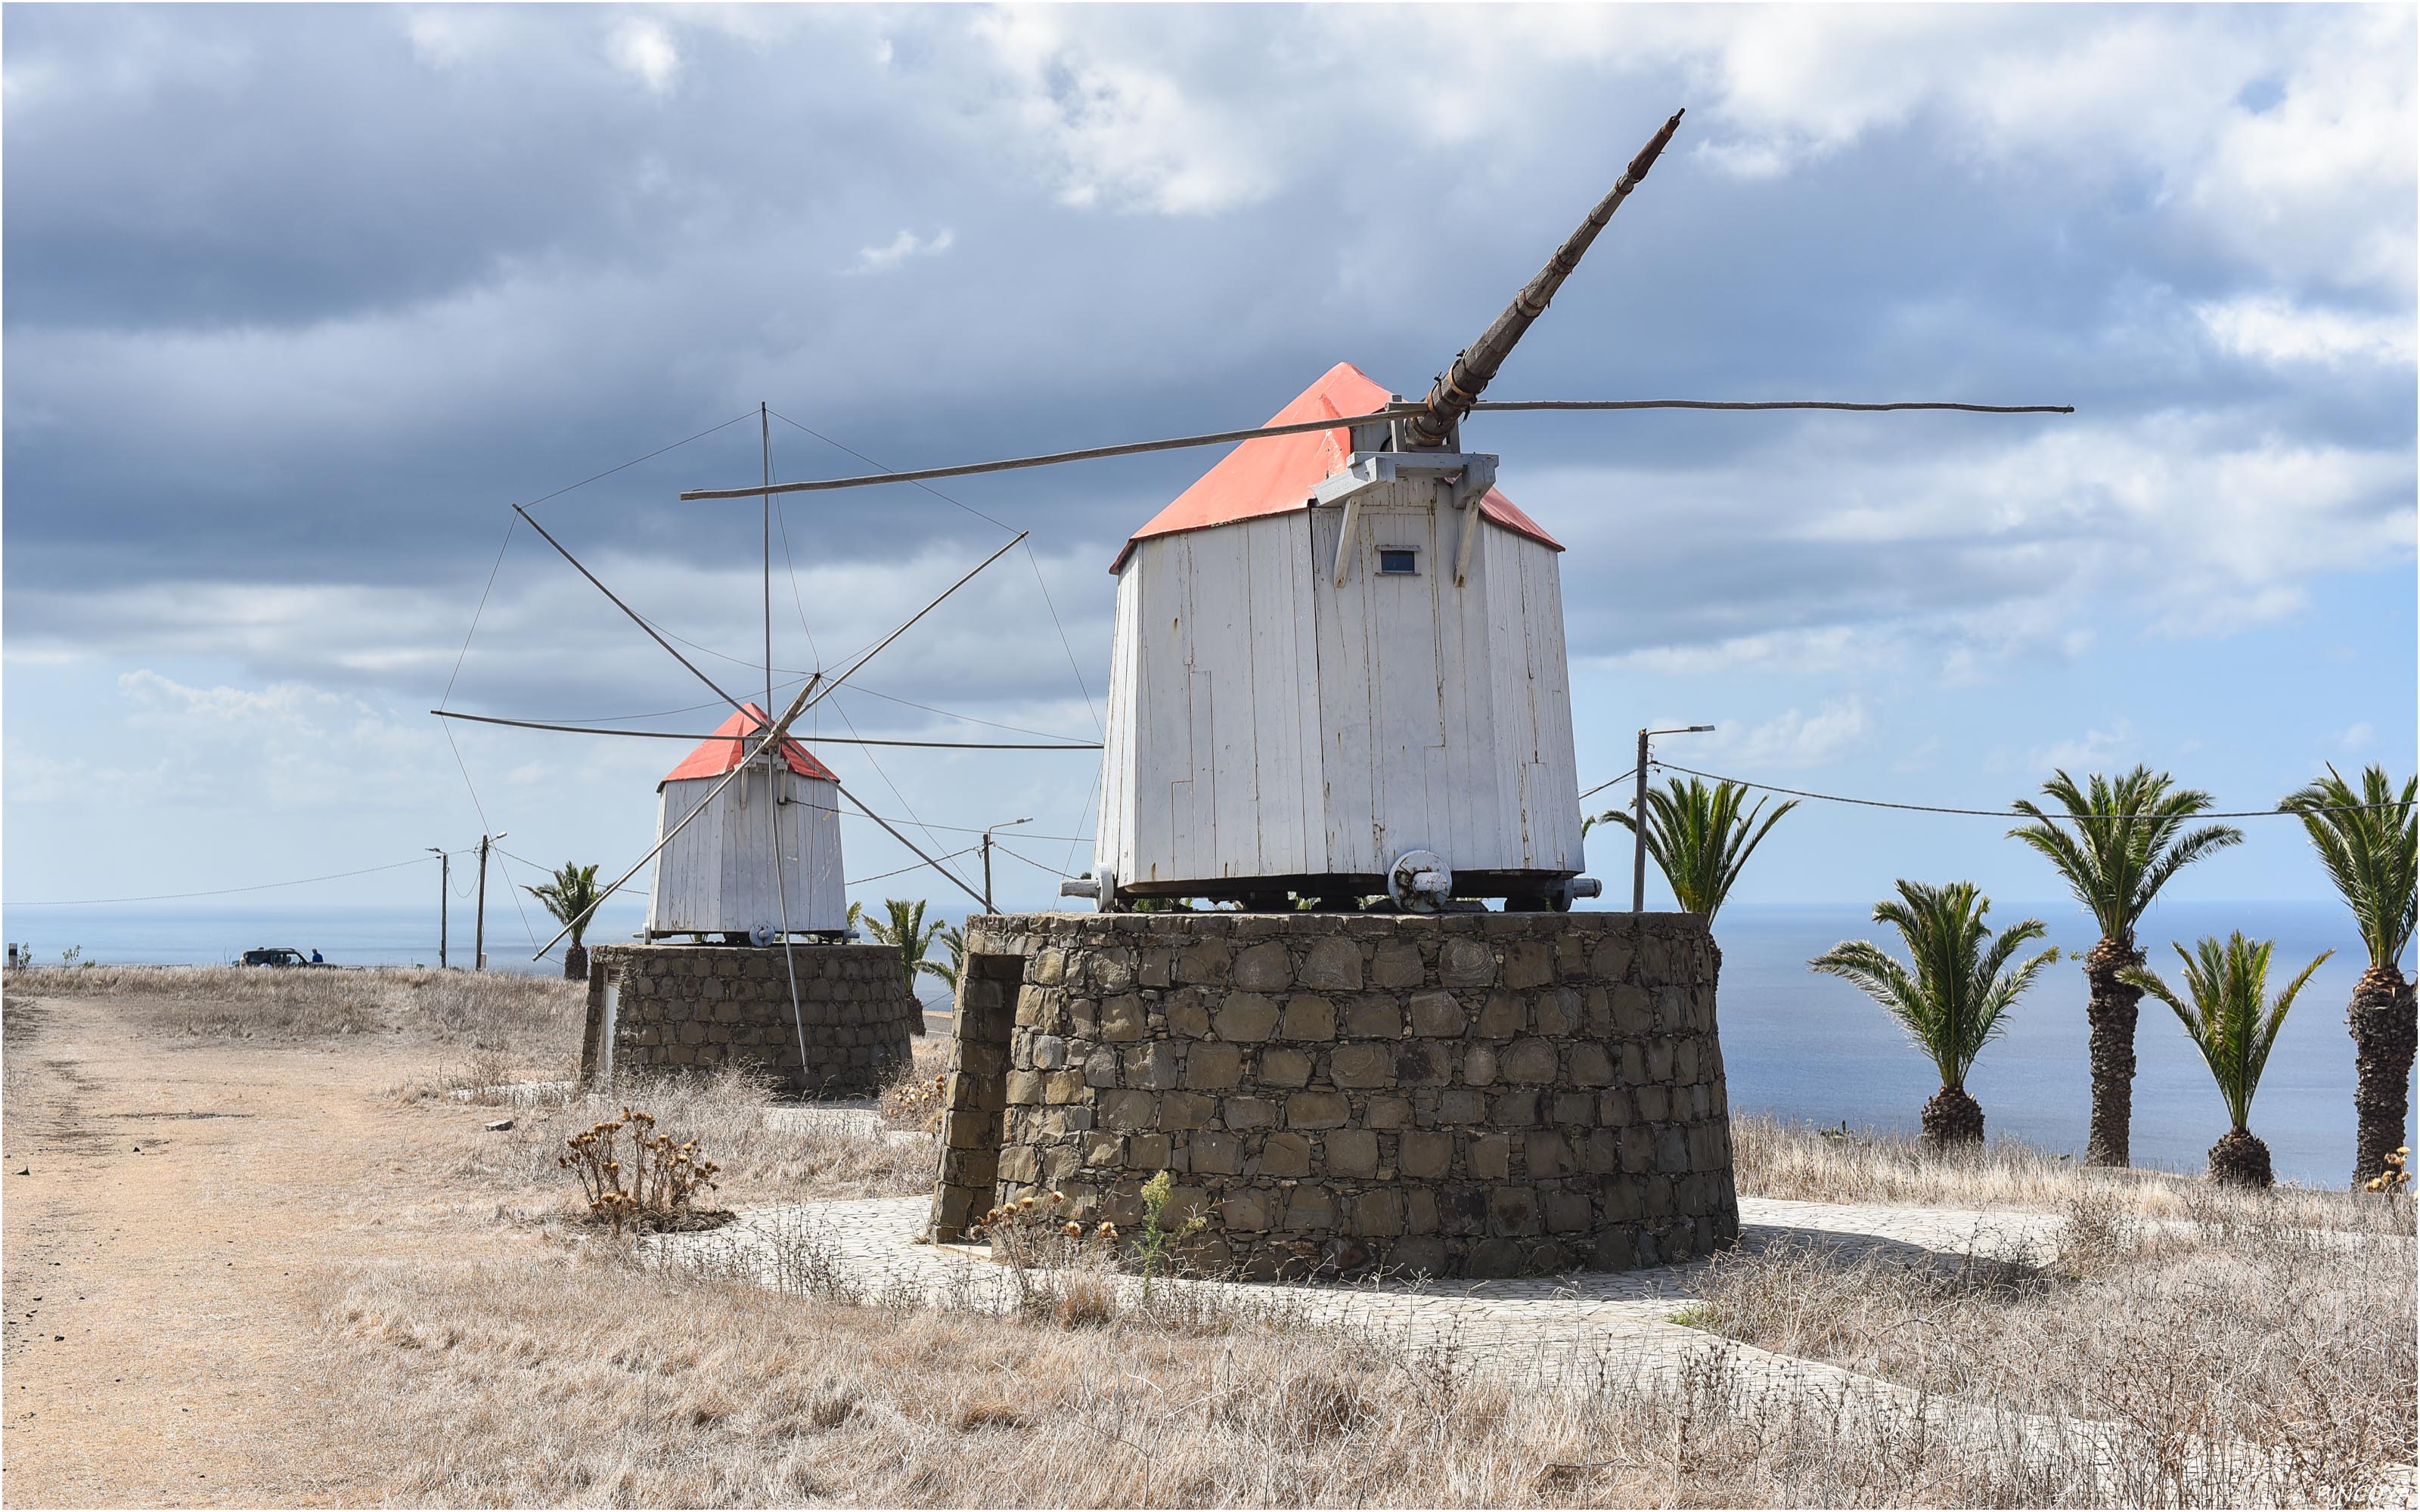
{"label": "white plank body with red roof of the nearer windmill", "polygon": [[[1387,399],[1338,363],[1270,423]],[[1353,448],[1346,426],[1249,440],[1120,552],[1113,893],[1401,893],[1433,868],[1440,893],[1568,905],[1561,544],[1493,489],[1496,457]],[[1406,854],[1430,859],[1396,876]]]}

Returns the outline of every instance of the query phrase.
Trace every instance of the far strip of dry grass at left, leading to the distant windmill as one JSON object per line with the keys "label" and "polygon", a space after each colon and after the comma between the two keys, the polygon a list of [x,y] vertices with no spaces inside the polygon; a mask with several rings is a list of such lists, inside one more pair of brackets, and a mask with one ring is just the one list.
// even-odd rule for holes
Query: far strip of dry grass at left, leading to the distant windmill
{"label": "far strip of dry grass at left, leading to the distant windmill", "polygon": [[416,1033],[511,1052],[540,1040],[578,1052],[586,989],[559,977],[421,968],[273,970],[244,965],[90,965],[17,970],[12,997],[114,997],[167,1033],[305,1040]]}

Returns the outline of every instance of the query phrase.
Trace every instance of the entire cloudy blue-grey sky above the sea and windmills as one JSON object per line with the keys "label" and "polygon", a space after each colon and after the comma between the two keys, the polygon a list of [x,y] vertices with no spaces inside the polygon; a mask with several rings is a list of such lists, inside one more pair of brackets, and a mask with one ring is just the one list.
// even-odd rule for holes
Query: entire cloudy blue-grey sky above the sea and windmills
{"label": "entire cloudy blue-grey sky above the sea and windmills", "polygon": [[[2386,7],[10,7],[5,895],[482,820],[620,868],[678,745],[428,716],[709,728],[513,503],[748,416],[535,513],[760,685],[757,506],[675,501],[757,477],[757,402],[811,477],[1249,426],[1336,360],[1416,392],[1677,106],[1496,397],[2076,414],[1474,421],[1571,547],[1585,774],[1643,721],[1951,806],[2055,764],[2224,808],[2410,772],[2413,82]],[[1094,738],[1108,561],[1215,455],[791,498],[774,660],[871,641],[1007,523],[1031,552],[820,733]],[[825,755],[934,844],[1091,832],[1084,755]],[[1810,806],[1740,898],[2055,895],[2001,830]],[[2321,895],[2253,830],[2180,890]]]}

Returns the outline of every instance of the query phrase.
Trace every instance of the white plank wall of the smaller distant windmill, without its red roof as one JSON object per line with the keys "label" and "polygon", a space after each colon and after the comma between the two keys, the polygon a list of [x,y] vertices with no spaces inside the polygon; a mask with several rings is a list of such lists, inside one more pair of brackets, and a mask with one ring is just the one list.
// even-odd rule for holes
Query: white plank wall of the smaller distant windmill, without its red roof
{"label": "white plank wall of the smaller distant windmill, without its red roof", "polygon": [[[656,835],[704,803],[719,777],[663,784]],[[794,931],[840,931],[849,902],[840,876],[840,791],[789,767],[772,774],[774,796],[791,798],[767,820],[765,762],[750,764],[656,856],[656,890],[646,927],[653,934],[745,934],[779,927],[782,890]],[[782,837],[782,881],[774,883],[774,825]]]}

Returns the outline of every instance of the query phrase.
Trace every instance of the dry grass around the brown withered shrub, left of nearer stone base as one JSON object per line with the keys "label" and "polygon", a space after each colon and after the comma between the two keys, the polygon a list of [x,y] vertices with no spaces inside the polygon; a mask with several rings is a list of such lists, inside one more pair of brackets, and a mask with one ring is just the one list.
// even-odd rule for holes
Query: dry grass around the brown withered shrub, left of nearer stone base
{"label": "dry grass around the brown withered shrub, left of nearer stone base", "polygon": [[588,1093],[515,1091],[503,1106],[513,1110],[513,1127],[477,1135],[455,1173],[491,1190],[511,1212],[537,1219],[586,1212],[576,1183],[554,1161],[564,1139],[624,1108],[651,1113],[673,1139],[697,1139],[721,1164],[716,1200],[728,1205],[929,1193],[939,1159],[932,1144],[799,1118],[806,1110],[774,1103],[767,1081],[741,1067],[711,1077],[622,1077]]}

